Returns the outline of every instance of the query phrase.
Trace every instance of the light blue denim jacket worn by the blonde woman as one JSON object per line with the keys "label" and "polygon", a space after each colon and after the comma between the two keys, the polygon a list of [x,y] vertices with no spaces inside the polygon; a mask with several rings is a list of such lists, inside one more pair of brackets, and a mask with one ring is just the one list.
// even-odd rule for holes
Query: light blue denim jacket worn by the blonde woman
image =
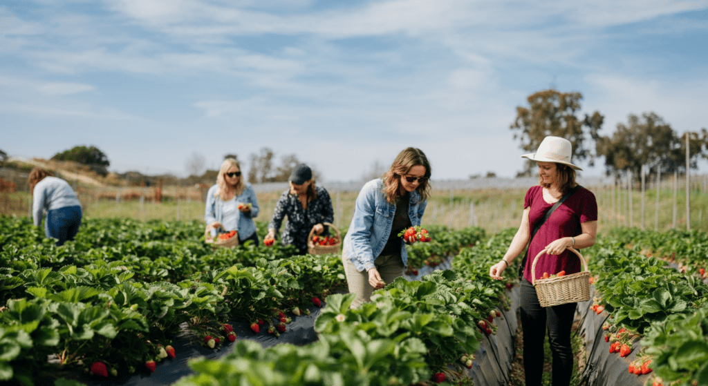
{"label": "light blue denim jacket worn by the blonde woman", "polygon": [[[234,201],[233,204],[243,203],[248,204],[249,202],[253,205],[251,208],[250,216],[242,211],[236,210],[236,218],[224,218],[222,210],[226,202],[222,201],[221,197],[216,196],[219,192],[219,185],[214,185],[209,188],[207,192],[207,204],[204,209],[204,221],[207,225],[213,223],[214,221],[219,221],[225,228],[224,230],[236,230],[239,233],[239,239],[245,240],[249,236],[256,232],[256,224],[253,223],[253,218],[258,216],[258,199],[256,198],[256,192],[253,192],[253,187],[251,184],[246,182],[244,191],[241,195],[234,197],[234,199],[229,201]],[[228,224],[232,224],[229,226]],[[234,227],[233,224],[236,226]],[[212,237],[216,235],[215,230],[212,230]]]}

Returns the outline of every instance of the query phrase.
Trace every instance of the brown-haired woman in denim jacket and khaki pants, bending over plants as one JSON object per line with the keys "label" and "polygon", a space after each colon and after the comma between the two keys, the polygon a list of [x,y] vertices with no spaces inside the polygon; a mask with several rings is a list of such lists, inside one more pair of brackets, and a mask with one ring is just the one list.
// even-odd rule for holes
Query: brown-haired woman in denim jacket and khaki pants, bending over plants
{"label": "brown-haired woman in denim jacket and khaki pants, bending over plants", "polygon": [[430,196],[428,178],[426,155],[406,148],[382,178],[367,182],[359,192],[342,251],[349,292],[356,294],[352,308],[403,276],[408,254],[398,234],[421,225]]}

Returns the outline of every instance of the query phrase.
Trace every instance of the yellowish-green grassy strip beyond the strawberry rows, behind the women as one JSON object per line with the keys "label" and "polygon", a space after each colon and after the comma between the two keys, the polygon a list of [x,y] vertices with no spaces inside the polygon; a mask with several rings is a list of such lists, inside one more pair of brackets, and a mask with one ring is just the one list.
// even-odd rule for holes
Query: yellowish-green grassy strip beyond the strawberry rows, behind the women
{"label": "yellowish-green grassy strip beyond the strawberry rows, behind the women", "polygon": [[[608,187],[589,187],[598,199],[600,221],[598,230],[614,226],[642,226],[641,192],[632,192],[632,213],[629,217],[629,196],[626,190]],[[433,191],[428,201],[424,224],[440,224],[450,228],[481,226],[489,233],[501,229],[518,227],[523,198],[526,189],[476,189],[455,191]],[[346,231],[354,212],[354,201],[358,192],[330,192],[335,214],[335,225]],[[198,199],[167,200],[162,203],[132,200],[115,201],[96,199],[95,195],[79,194],[84,206],[84,216],[94,218],[136,218],[142,221],[152,219],[190,220],[204,218],[204,203]],[[261,213],[258,221],[269,221],[273,216],[275,202],[280,192],[258,193]],[[27,193],[1,193],[0,213],[28,216],[30,196]],[[691,228],[707,230],[708,192],[694,189],[690,194]],[[676,227],[686,228],[685,190],[676,195]],[[647,190],[644,197],[644,227],[654,229],[656,224],[656,190]],[[659,192],[658,230],[668,230],[673,226],[673,189]]]}

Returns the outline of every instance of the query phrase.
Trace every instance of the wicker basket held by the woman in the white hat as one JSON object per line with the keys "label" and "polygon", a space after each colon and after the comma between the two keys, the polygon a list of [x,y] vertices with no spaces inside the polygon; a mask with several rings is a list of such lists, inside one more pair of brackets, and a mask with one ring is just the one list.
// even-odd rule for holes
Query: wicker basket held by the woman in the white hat
{"label": "wicker basket held by the woman in the white hat", "polygon": [[542,250],[536,255],[531,266],[531,277],[534,279],[533,285],[536,288],[538,301],[541,307],[551,307],[552,305],[576,303],[590,300],[590,271],[588,262],[577,250],[568,248],[580,257],[583,262],[583,271],[577,274],[569,274],[552,279],[536,280],[536,263],[538,258],[546,252]]}

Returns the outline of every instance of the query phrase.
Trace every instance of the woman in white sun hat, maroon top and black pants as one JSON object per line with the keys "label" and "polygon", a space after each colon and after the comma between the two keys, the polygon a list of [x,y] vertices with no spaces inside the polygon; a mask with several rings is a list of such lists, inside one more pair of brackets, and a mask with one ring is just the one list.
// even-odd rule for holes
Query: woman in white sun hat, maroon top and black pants
{"label": "woman in white sun hat, maroon top and black pants", "polygon": [[[520,304],[527,386],[541,385],[546,329],[553,356],[553,385],[569,385],[573,370],[571,327],[576,303],[541,307],[531,277],[533,259],[539,252],[545,250],[536,264],[535,279],[541,279],[544,272],[574,274],[581,271],[580,259],[566,248],[580,249],[595,244],[598,204],[592,192],[576,184],[576,170],[582,169],[571,163],[572,153],[570,141],[547,136],[536,153],[522,156],[536,161],[539,185],[526,192],[521,225],[503,259],[489,269],[490,276],[501,279],[510,262],[529,245],[520,269],[523,272]],[[562,203],[544,221],[547,212],[561,199]],[[539,224],[542,225],[537,233],[532,234]]]}

